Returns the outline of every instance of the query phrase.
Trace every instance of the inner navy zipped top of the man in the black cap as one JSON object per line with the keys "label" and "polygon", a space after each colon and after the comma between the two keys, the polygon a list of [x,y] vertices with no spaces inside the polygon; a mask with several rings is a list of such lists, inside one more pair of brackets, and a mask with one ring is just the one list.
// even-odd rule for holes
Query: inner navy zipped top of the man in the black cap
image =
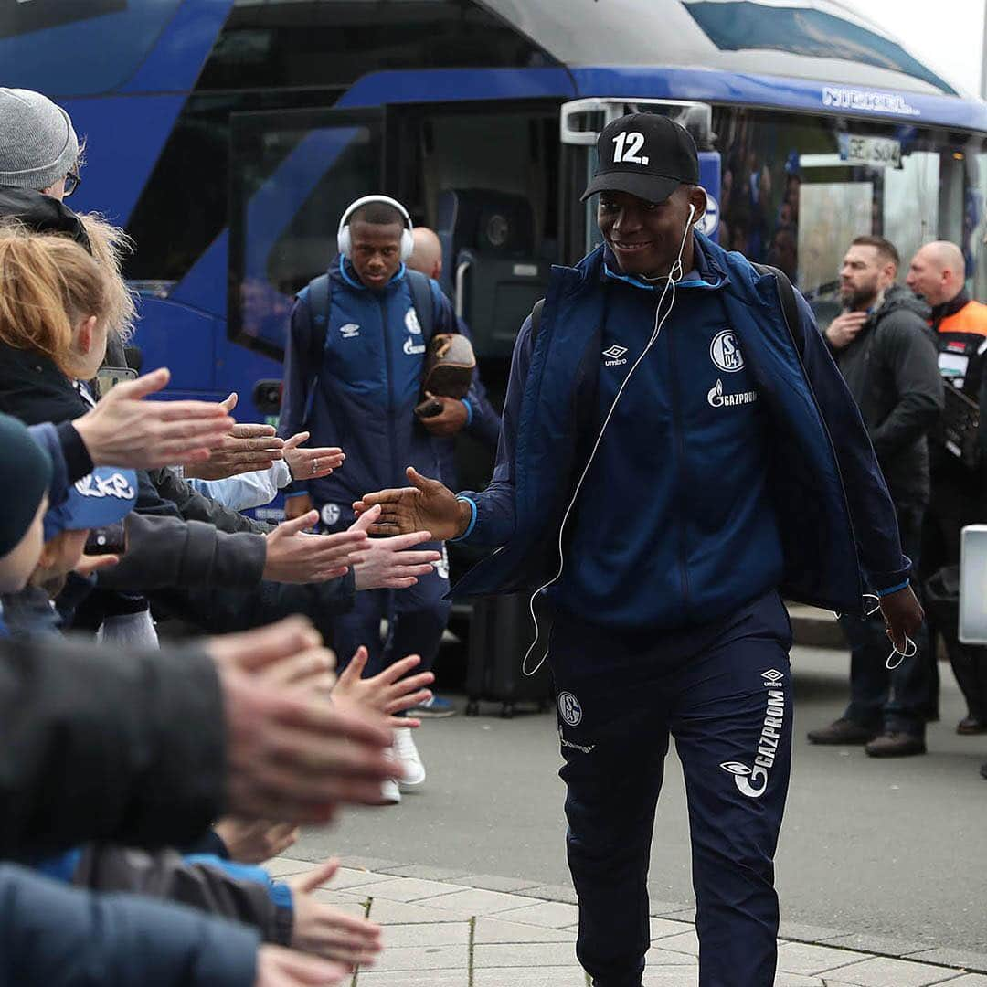
{"label": "inner navy zipped top of the man in the black cap", "polygon": [[[633,376],[662,286],[620,273],[605,252],[598,432],[623,394],[566,529],[556,607],[614,629],[702,623],[777,586],[783,559],[768,493],[773,439],[718,297],[692,272]],[[670,292],[661,303],[668,312]],[[614,480],[635,492],[615,509]],[[632,524],[628,524],[629,517]],[[715,548],[715,551],[712,549]]]}

